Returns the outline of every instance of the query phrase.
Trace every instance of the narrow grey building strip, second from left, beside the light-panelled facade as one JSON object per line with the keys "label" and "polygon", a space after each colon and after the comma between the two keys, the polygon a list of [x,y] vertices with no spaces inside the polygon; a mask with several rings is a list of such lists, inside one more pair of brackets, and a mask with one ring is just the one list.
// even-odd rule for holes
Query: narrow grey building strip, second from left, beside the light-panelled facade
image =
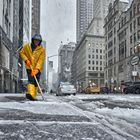
{"label": "narrow grey building strip, second from left, beside the light-panelled facade", "polygon": [[11,92],[19,91],[19,71],[18,71],[18,48],[19,48],[19,0],[13,1],[13,47],[10,57],[10,67],[14,76],[11,82]]}

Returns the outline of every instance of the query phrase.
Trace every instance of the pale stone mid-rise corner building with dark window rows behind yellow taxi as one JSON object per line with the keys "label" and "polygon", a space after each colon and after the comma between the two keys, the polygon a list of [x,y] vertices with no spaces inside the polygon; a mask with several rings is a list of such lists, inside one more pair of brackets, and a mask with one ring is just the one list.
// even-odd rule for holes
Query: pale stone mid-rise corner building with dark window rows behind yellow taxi
{"label": "pale stone mid-rise corner building with dark window rows behind yellow taxi", "polygon": [[82,89],[89,82],[104,85],[104,36],[87,32],[77,45],[72,64],[73,84]]}

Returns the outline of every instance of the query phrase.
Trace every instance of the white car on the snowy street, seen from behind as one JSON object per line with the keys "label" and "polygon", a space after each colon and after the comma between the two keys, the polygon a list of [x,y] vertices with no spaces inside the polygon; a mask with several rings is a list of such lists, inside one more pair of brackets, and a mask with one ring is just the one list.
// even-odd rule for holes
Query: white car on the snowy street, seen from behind
{"label": "white car on the snowy street, seen from behind", "polygon": [[73,85],[71,84],[62,84],[59,86],[56,95],[76,95],[76,89]]}

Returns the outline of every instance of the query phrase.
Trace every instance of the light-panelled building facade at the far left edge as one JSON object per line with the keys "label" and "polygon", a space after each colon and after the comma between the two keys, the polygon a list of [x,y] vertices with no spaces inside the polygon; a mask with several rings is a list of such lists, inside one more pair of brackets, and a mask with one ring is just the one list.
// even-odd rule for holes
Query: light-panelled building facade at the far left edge
{"label": "light-panelled building facade at the far left edge", "polygon": [[0,1],[0,92],[10,92],[13,49],[13,1]]}

